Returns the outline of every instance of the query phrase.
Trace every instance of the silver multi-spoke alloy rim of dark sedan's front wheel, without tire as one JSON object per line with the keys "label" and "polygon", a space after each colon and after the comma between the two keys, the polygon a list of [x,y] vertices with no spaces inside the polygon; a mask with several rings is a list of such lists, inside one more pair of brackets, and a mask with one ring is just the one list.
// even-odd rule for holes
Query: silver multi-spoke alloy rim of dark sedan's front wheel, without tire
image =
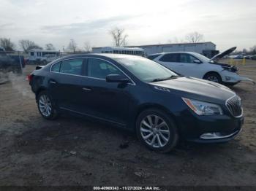
{"label": "silver multi-spoke alloy rim of dark sedan's front wheel, without tire", "polygon": [[162,148],[170,139],[170,129],[161,117],[150,114],[140,122],[140,134],[151,147]]}

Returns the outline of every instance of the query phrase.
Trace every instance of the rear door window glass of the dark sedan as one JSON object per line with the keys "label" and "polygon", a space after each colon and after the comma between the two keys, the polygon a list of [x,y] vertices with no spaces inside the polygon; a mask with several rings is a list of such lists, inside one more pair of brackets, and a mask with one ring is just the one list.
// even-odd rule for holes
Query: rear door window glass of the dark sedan
{"label": "rear door window glass of the dark sedan", "polygon": [[83,59],[62,61],[60,72],[65,74],[81,75],[82,67]]}

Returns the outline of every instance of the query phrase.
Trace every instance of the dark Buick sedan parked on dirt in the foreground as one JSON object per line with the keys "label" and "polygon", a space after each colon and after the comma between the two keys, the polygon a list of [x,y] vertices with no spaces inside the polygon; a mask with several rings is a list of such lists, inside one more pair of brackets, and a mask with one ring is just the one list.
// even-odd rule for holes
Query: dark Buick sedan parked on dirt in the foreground
{"label": "dark Buick sedan parked on dirt in the foreground", "polygon": [[110,122],[161,152],[179,139],[229,141],[244,121],[241,98],[228,87],[134,55],[70,55],[37,67],[29,84],[45,119],[69,112]]}

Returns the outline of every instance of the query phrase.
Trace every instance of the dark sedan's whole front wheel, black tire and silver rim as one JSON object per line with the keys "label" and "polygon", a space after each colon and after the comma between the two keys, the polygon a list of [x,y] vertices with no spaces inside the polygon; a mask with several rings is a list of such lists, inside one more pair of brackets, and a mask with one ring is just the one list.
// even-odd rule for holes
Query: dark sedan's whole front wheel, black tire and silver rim
{"label": "dark sedan's whole front wheel, black tire and silver rim", "polygon": [[139,114],[136,134],[148,149],[157,152],[170,152],[178,143],[175,123],[168,114],[159,109],[146,109]]}

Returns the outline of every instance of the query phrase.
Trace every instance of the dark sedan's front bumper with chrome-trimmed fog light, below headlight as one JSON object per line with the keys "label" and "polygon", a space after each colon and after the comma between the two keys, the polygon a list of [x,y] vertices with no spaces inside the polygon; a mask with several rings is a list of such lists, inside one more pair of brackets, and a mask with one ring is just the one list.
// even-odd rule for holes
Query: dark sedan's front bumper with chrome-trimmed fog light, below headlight
{"label": "dark sedan's front bumper with chrome-trimmed fog light, below headlight", "polygon": [[219,143],[234,139],[241,132],[244,116],[199,116],[187,111],[179,120],[181,136],[197,143]]}

